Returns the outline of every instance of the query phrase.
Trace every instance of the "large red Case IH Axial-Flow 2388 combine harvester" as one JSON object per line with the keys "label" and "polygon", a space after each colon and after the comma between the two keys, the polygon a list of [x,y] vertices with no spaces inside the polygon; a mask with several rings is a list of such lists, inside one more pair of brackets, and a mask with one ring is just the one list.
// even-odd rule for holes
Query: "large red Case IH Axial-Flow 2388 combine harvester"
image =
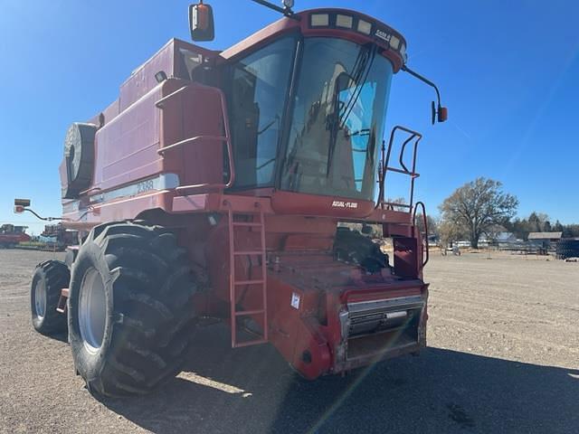
{"label": "large red Case IH Axial-Flow 2388 combine harvester", "polygon": [[[36,269],[32,316],[43,334],[68,326],[90,391],[144,393],[176,375],[203,316],[231,325],[233,347],[273,344],[310,380],[426,344],[422,136],[382,137],[395,73],[436,90],[432,122],[447,116],[439,92],[370,16],[257,3],[284,16],[223,52],[167,42],[66,134],[62,224],[81,242]],[[189,14],[193,39],[213,39],[211,6]],[[409,176],[408,203],[384,201],[390,172]]]}

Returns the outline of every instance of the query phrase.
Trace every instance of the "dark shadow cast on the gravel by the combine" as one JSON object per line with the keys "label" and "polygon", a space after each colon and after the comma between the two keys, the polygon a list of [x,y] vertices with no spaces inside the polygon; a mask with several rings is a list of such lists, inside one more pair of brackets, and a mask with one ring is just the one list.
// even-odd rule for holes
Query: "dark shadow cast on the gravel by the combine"
{"label": "dark shadow cast on the gravel by the combine", "polygon": [[429,348],[304,382],[269,345],[198,333],[185,373],[153,395],[102,400],[156,433],[579,432],[579,371]]}

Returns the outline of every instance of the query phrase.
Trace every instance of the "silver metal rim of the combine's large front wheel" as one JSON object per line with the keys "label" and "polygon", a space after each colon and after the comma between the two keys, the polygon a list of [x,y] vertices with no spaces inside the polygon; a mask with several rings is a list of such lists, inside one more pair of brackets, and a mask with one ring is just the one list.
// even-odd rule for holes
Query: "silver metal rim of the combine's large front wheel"
{"label": "silver metal rim of the combine's large front wheel", "polygon": [[81,284],[79,299],[79,327],[82,342],[86,349],[94,354],[102,345],[107,322],[107,304],[105,285],[99,271],[89,269]]}

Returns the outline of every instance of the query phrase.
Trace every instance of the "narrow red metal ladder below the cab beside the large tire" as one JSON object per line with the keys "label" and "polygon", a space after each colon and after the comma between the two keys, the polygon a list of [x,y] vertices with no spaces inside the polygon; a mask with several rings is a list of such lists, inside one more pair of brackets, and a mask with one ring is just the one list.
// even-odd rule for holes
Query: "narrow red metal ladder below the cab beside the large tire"
{"label": "narrow red metal ladder below the cab beside the large tire", "polygon": [[[232,347],[239,348],[242,346],[249,346],[254,344],[264,344],[268,342],[268,313],[267,313],[267,266],[265,254],[265,227],[263,219],[263,210],[260,203],[255,203],[255,212],[233,212],[231,206],[228,207],[229,219],[229,264],[230,264],[230,280],[229,280],[229,299],[231,306],[231,327],[232,327]],[[240,218],[244,220],[240,220]],[[258,220],[256,220],[256,218]],[[250,228],[251,231],[260,232],[260,245],[246,247],[243,250],[238,250],[235,246],[236,233],[240,229]],[[244,256],[257,256],[261,260],[261,278],[250,280],[239,280],[235,276],[235,264],[237,260]],[[261,306],[252,310],[238,310],[236,300],[238,290],[242,287],[259,287],[261,288]],[[257,289],[257,288],[256,288]],[[262,319],[263,333],[259,338],[251,340],[238,339],[237,335],[237,320],[243,316],[258,316]]]}

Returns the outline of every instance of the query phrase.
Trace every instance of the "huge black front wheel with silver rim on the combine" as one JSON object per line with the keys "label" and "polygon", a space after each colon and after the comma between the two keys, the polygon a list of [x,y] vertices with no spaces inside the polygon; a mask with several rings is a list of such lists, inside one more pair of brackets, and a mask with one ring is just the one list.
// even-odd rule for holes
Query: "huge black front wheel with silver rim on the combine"
{"label": "huge black front wheel with silver rim on the combine", "polygon": [[195,283],[184,249],[159,226],[94,228],[72,270],[69,340],[91,392],[152,391],[181,371]]}

